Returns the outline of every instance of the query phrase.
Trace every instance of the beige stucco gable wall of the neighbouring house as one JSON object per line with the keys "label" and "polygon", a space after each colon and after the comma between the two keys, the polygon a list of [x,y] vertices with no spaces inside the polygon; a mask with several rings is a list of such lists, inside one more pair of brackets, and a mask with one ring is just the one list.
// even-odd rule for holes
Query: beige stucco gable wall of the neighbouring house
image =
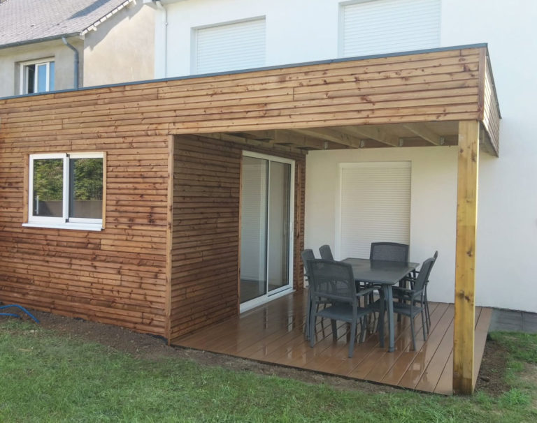
{"label": "beige stucco gable wall of the neighbouring house", "polygon": [[85,87],[154,77],[154,14],[152,8],[138,0],[86,34]]}

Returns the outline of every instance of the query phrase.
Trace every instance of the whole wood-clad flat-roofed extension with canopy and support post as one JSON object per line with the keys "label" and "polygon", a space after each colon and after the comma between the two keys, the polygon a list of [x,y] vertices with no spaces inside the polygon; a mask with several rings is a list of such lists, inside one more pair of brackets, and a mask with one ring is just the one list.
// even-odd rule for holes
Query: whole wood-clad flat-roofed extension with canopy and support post
{"label": "whole wood-clad flat-roofed extension with canopy and support post", "polygon": [[[469,393],[478,156],[498,154],[499,118],[486,45],[0,99],[0,299],[173,343],[238,313],[242,149],[296,160],[300,288],[308,150],[457,144],[453,386]],[[49,151],[106,152],[101,232],[21,228],[28,156]]]}

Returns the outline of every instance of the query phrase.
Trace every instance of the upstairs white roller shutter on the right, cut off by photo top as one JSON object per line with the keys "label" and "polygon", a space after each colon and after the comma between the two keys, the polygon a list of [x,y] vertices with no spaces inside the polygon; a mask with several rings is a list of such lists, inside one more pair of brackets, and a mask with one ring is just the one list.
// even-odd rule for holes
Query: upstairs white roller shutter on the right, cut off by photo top
{"label": "upstairs white roller shutter on the right, cut off by photo top", "polygon": [[342,6],[343,57],[440,46],[441,0],[371,0]]}

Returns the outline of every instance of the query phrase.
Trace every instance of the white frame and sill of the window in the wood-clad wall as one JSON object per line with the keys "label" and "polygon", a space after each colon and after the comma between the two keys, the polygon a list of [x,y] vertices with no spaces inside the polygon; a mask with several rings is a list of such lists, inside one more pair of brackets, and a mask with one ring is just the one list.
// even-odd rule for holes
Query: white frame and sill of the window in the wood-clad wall
{"label": "white frame and sill of the window in the wood-clad wall", "polygon": [[[61,158],[63,160],[63,198],[62,217],[35,216],[34,215],[34,161]],[[91,153],[45,153],[31,154],[29,156],[29,177],[28,177],[28,222],[22,226],[37,228],[59,228],[78,230],[102,230],[103,218],[76,218],[69,217],[69,166],[71,158],[102,158],[103,159],[103,204],[105,201],[105,172],[106,158],[103,152]],[[103,215],[104,216],[104,215]]]}

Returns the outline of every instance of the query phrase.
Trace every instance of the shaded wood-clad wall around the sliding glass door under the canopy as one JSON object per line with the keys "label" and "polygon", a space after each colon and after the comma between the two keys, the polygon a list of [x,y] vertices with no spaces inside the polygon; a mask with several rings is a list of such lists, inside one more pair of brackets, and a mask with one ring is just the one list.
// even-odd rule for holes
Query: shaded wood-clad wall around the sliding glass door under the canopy
{"label": "shaded wood-clad wall around the sliding glass door under the canopy", "polygon": [[243,149],[295,160],[294,286],[302,288],[305,157],[179,135],[173,163],[171,343],[238,314]]}

